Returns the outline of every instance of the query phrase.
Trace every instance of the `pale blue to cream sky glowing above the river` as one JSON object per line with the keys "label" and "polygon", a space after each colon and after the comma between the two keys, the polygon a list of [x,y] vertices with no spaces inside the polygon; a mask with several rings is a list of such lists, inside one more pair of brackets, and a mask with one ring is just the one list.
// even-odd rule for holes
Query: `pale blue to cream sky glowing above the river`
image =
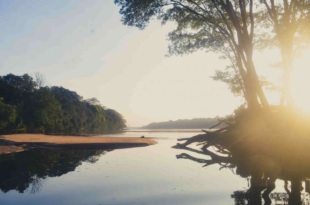
{"label": "pale blue to cream sky glowing above the river", "polygon": [[[228,62],[197,51],[165,57],[166,34],[175,24],[153,20],[144,30],[122,25],[113,1],[1,1],[0,75],[39,71],[51,85],[95,97],[120,112],[127,126],[229,115],[241,103],[228,86],[213,81]],[[307,56],[294,63],[291,89],[296,104],[310,110]],[[259,75],[281,84],[278,50],[255,51]],[[270,104],[278,92],[266,91]]]}

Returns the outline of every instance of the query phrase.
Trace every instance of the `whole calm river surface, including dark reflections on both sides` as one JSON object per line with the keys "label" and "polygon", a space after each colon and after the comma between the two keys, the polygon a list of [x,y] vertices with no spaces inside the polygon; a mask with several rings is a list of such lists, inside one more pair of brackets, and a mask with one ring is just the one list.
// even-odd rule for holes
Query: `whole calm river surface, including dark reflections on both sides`
{"label": "whole calm river surface, including dark reflections on both sides", "polygon": [[[307,161],[300,167],[290,160],[286,164],[272,160],[273,156],[235,160],[190,148],[180,151],[170,147],[177,138],[195,133],[154,133],[139,132],[135,137],[158,137],[157,145],[114,150],[99,161],[104,151],[36,150],[0,155],[0,190],[17,190],[0,192],[0,204],[243,205],[270,204],[270,200],[271,204],[309,204]],[[300,181],[292,183],[294,176]],[[293,194],[289,196],[285,189]]]}

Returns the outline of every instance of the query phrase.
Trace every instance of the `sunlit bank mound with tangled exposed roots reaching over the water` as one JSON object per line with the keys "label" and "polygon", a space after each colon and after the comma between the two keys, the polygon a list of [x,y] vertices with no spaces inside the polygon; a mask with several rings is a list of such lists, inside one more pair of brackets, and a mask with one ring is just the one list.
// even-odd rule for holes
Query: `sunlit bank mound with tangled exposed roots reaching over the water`
{"label": "sunlit bank mound with tangled exposed roots reaching over the water", "polygon": [[[301,111],[283,106],[239,107],[234,115],[219,120],[227,126],[204,130],[204,134],[178,139],[173,148],[193,151],[220,159],[246,159],[248,155],[272,155],[278,159],[308,159],[310,152],[310,117]],[[200,146],[194,149],[192,145]],[[191,147],[188,147],[191,146]],[[209,149],[213,147],[214,151]],[[231,159],[230,159],[231,158]]]}

